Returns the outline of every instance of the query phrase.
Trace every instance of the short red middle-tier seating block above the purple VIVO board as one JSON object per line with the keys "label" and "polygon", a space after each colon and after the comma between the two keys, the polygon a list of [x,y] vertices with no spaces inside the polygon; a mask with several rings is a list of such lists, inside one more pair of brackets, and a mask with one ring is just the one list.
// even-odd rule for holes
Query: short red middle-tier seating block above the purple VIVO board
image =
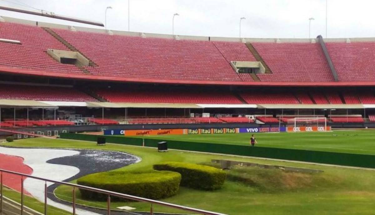
{"label": "short red middle-tier seating block above the purple VIVO board", "polygon": [[299,101],[291,93],[241,93],[248,104],[299,104]]}

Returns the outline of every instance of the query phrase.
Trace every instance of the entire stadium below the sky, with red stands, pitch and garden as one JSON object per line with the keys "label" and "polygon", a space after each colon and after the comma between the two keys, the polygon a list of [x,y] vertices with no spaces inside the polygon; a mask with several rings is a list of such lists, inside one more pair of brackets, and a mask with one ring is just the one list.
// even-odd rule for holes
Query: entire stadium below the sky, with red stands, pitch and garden
{"label": "entire stadium below the sky, with red stands, pitch and garden", "polygon": [[0,17],[0,211],[372,214],[374,55]]}

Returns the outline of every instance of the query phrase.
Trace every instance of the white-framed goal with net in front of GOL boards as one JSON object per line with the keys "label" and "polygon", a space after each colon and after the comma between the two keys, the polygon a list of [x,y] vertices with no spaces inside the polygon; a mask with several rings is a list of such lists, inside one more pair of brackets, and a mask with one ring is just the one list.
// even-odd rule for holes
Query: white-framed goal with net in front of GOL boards
{"label": "white-framed goal with net in front of GOL boards", "polygon": [[287,126],[298,131],[327,131],[326,117],[295,117],[287,120]]}

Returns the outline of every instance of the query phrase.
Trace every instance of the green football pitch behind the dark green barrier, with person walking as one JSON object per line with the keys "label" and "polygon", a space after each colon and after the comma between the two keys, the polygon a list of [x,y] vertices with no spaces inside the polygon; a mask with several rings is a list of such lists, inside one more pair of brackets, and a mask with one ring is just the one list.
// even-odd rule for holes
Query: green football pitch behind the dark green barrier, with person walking
{"label": "green football pitch behind the dark green barrier, with person walking", "polygon": [[375,155],[375,130],[332,131],[309,133],[238,133],[192,135],[145,135],[138,138],[178,140],[202,143],[249,145],[254,134],[256,147],[318,150]]}

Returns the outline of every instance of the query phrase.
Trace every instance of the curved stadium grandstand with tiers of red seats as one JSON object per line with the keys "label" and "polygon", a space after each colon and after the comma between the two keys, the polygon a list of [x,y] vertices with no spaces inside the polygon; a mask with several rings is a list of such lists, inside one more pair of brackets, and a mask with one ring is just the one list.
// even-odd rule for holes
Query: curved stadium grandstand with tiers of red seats
{"label": "curved stadium grandstand with tiers of red seats", "polygon": [[374,38],[158,35],[0,17],[0,127],[234,128],[294,117],[375,127],[374,55]]}

